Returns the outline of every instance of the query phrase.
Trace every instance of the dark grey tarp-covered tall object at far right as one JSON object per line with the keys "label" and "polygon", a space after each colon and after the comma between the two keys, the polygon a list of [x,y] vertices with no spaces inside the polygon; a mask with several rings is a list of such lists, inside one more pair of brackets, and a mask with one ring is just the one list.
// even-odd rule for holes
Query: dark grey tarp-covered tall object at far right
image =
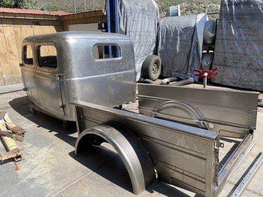
{"label": "dark grey tarp-covered tall object at far right", "polygon": [[263,91],[263,0],[222,0],[212,82]]}

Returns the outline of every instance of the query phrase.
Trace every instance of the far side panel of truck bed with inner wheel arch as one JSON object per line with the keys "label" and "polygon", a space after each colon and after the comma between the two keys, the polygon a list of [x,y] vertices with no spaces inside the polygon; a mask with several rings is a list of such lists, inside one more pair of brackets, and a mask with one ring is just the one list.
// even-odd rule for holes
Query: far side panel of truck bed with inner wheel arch
{"label": "far side panel of truck bed with inner wheel arch", "polygon": [[[138,85],[138,91],[139,111],[148,116],[203,123],[206,129],[229,137],[243,138],[249,130],[256,129],[257,92],[149,84]],[[159,112],[160,106],[168,105],[169,101],[180,103],[181,108],[174,104]],[[197,114],[195,119],[187,107]]]}

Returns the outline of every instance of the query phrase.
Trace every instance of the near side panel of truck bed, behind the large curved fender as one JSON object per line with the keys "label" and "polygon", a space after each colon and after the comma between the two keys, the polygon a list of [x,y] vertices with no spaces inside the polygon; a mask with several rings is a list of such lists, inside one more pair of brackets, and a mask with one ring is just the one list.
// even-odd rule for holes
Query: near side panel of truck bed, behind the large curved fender
{"label": "near side panel of truck bed, behind the large curved fender", "polygon": [[212,195],[217,185],[218,133],[81,101],[72,104],[79,131],[105,122],[121,123],[141,139],[160,181]]}

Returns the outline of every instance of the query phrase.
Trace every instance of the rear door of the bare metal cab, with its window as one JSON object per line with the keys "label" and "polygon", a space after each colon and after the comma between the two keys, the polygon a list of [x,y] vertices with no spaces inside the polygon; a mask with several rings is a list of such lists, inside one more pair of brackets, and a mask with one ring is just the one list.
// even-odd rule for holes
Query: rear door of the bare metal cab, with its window
{"label": "rear door of the bare metal cab, with its window", "polygon": [[65,115],[60,86],[60,68],[54,42],[38,42],[36,53],[36,81],[43,109],[58,117]]}

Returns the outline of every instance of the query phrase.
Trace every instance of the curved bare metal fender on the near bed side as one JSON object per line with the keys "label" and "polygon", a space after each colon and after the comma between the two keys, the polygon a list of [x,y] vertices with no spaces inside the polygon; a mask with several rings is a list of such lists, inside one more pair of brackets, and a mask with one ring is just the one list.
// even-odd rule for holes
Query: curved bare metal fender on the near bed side
{"label": "curved bare metal fender on the near bed side", "polygon": [[125,164],[134,194],[140,195],[156,179],[150,156],[132,131],[116,123],[108,124],[111,126],[99,125],[82,131],[75,143],[75,155],[77,155],[78,144],[83,136],[95,134],[104,138],[113,146]]}

